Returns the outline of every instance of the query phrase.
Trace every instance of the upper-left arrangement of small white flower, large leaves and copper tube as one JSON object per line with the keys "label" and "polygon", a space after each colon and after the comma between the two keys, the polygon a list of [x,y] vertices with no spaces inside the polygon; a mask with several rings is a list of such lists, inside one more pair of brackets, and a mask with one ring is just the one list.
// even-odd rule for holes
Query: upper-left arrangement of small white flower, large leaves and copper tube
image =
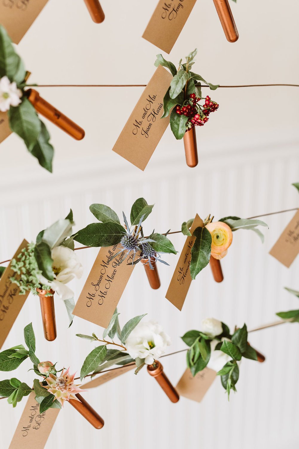
{"label": "upper-left arrangement of small white flower, large leaves and copper tube", "polygon": [[0,25],[0,111],[8,113],[10,130],[21,137],[39,164],[52,172],[54,149],[49,142],[48,130],[37,112],[74,139],[83,139],[85,132],[40,97],[39,92],[28,89],[30,85],[26,83],[29,75],[5,28]]}

